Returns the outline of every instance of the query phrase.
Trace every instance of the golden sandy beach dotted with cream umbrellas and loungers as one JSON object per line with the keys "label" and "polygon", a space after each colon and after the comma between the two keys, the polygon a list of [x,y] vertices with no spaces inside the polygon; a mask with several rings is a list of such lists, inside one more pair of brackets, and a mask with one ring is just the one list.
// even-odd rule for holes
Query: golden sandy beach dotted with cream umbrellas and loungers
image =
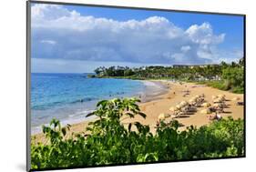
{"label": "golden sandy beach dotted with cream umbrellas and loungers", "polygon": [[[142,118],[141,116],[137,116],[132,119],[124,118],[122,122],[125,125],[130,122],[139,121],[142,124],[150,126],[150,131],[152,133],[155,133],[155,126],[157,121],[159,120],[160,113],[170,114],[170,106],[176,106],[179,104],[179,102],[183,100],[188,101],[191,97],[201,94],[204,94],[205,100],[210,103],[212,103],[212,96],[218,96],[220,94],[226,96],[226,99],[228,100],[226,101],[226,104],[229,107],[224,108],[224,113],[220,114],[223,118],[226,118],[228,116],[232,116],[235,119],[244,117],[244,106],[237,106],[237,101],[232,100],[234,97],[239,97],[239,101],[243,101],[243,94],[234,94],[228,91],[221,91],[210,86],[196,85],[192,83],[183,83],[182,85],[180,85],[179,83],[173,83],[165,80],[155,82],[161,82],[163,85],[169,86],[168,93],[162,94],[160,96],[155,96],[152,100],[148,102],[140,103],[139,106],[141,111],[147,115],[146,119]],[[189,95],[184,96],[185,90],[190,91]],[[176,118],[176,120],[178,120],[179,123],[183,125],[179,127],[179,129],[183,130],[186,129],[187,126],[191,125],[199,127],[210,124],[210,120],[207,115],[200,113],[202,109],[205,109],[205,107],[198,107],[198,111],[195,114],[190,115],[189,117]],[[169,120],[169,118],[167,118],[167,120]],[[83,133],[88,122],[89,121],[85,121],[72,125],[70,127],[70,131],[67,133],[67,137],[70,137],[71,133]],[[46,144],[46,138],[42,133],[36,134],[35,136],[33,136],[33,138],[33,142],[42,142],[43,144]]]}

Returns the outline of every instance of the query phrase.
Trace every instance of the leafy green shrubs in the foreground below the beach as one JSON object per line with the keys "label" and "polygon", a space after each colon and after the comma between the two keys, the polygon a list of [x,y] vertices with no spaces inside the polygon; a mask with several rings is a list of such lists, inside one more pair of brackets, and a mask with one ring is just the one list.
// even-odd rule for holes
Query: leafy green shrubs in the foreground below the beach
{"label": "leafy green shrubs in the foreground below the beach", "polygon": [[[97,120],[87,127],[88,135],[64,139],[69,126],[53,119],[43,132],[50,144],[33,144],[32,168],[90,167],[97,165],[171,161],[244,155],[243,120],[231,117],[210,126],[190,126],[178,131],[178,121],[161,122],[156,134],[138,122],[124,126],[123,117],[142,116],[138,99],[98,102],[90,115]],[[203,117],[203,116],[202,116]]]}

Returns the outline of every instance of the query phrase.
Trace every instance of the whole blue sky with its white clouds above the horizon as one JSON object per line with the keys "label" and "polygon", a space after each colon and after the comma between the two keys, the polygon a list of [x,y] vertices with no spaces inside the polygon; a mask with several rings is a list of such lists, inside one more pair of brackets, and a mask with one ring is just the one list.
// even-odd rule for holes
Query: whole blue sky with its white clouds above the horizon
{"label": "whole blue sky with its white clouds above the horizon", "polygon": [[243,56],[243,17],[32,5],[32,72],[214,64]]}

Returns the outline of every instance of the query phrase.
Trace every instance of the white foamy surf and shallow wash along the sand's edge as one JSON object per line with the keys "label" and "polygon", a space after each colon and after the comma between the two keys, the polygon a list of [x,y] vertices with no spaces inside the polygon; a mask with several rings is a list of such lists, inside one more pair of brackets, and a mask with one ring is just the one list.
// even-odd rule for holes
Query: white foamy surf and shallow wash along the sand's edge
{"label": "white foamy surf and shallow wash along the sand's edge", "polygon": [[[112,78],[111,78],[112,79]],[[113,78],[115,79],[115,78]],[[116,80],[116,79],[115,79]],[[120,80],[120,79],[118,79]],[[134,83],[134,81],[130,80],[130,79],[125,79],[128,82],[130,81],[131,83]],[[117,95],[113,96],[112,93],[109,93],[109,97],[98,97],[97,101],[93,100],[93,101],[76,101],[75,103],[71,103],[71,105],[65,105],[65,106],[60,106],[60,108],[49,108],[50,110],[47,109],[47,111],[40,111],[40,114],[36,114],[36,112],[33,112],[33,115],[35,117],[35,121],[36,123],[33,123],[33,126],[31,126],[31,133],[32,136],[39,134],[42,132],[42,126],[48,126],[50,120],[55,117],[56,119],[60,120],[62,126],[67,126],[67,124],[69,125],[75,125],[78,124],[80,122],[85,122],[85,121],[91,121],[94,120],[96,118],[96,116],[89,116],[86,117],[88,113],[93,112],[96,109],[96,105],[97,102],[102,100],[102,99],[112,99],[112,98],[124,98],[124,97],[138,97],[141,102],[148,102],[148,101],[152,101],[155,99],[158,99],[159,96],[168,93],[168,87],[163,85],[161,82],[158,81],[149,81],[149,80],[135,80],[135,82],[140,83],[138,85],[138,89],[135,88],[133,89],[130,88],[130,90],[126,90],[126,94],[125,92],[118,92],[118,89],[115,90],[113,89],[113,93],[116,92]],[[133,91],[131,91],[133,90]],[[106,91],[108,92],[108,91]],[[106,95],[106,94],[105,94]],[[61,101],[61,100],[59,100]],[[88,106],[89,104],[89,106]],[[59,106],[57,106],[59,107]],[[58,110],[58,111],[54,111],[54,110]],[[63,109],[66,109],[66,111],[64,111]],[[70,110],[71,109],[71,110]],[[49,112],[51,113],[51,115],[49,115]],[[47,116],[45,116],[45,114]],[[35,115],[36,114],[36,115]],[[37,118],[36,118],[37,116]],[[38,117],[38,116],[42,116],[42,117]],[[44,118],[43,118],[44,117]],[[50,117],[50,118],[49,118]],[[41,119],[44,119],[44,121],[42,121]]]}

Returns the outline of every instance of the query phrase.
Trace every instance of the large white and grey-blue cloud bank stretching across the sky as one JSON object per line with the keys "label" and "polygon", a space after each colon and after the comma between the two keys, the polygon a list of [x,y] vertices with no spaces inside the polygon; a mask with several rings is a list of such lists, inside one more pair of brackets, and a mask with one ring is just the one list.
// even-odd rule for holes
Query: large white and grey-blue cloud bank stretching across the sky
{"label": "large white and grey-blue cloud bank stretching across the sky", "polygon": [[[144,64],[216,61],[225,34],[209,23],[180,28],[165,17],[117,21],[62,5],[32,6],[32,57]],[[56,44],[57,43],[57,44]]]}

